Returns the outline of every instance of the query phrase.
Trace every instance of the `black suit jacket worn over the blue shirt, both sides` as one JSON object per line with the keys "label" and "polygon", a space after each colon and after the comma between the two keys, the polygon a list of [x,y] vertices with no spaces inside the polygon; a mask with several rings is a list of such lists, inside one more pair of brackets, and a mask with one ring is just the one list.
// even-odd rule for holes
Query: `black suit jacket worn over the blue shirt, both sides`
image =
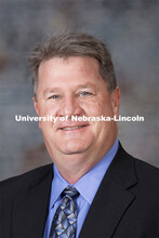
{"label": "black suit jacket worn over the blue shirt, both sides", "polygon": [[[52,178],[49,164],[0,183],[1,238],[43,236]],[[159,170],[120,146],[79,237],[159,237]]]}

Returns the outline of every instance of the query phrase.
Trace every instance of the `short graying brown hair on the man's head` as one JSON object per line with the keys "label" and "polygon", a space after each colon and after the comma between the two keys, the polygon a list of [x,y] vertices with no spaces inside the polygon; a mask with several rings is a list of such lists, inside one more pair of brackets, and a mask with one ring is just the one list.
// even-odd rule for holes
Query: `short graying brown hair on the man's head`
{"label": "short graying brown hair on the man's head", "polygon": [[52,57],[89,56],[97,60],[101,77],[107,82],[109,92],[116,87],[116,75],[111,56],[106,45],[87,34],[67,34],[53,36],[49,41],[38,44],[29,56],[32,69],[34,95],[38,89],[38,69],[42,61]]}

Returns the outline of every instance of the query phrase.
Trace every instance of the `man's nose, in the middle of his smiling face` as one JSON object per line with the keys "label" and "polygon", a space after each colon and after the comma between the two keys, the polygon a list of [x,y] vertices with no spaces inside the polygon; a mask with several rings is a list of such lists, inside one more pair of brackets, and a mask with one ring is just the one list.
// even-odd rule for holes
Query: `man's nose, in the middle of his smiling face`
{"label": "man's nose, in the middle of his smiling face", "polygon": [[74,96],[65,96],[59,105],[57,116],[58,117],[65,117],[68,116],[71,117],[71,115],[80,116],[82,115],[83,110],[81,108],[80,103],[78,100]]}

